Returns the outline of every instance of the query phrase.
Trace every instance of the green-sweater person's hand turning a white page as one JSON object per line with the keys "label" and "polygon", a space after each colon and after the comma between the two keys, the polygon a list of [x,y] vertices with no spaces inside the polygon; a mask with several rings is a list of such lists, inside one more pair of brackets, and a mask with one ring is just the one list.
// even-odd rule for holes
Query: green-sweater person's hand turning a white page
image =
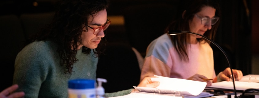
{"label": "green-sweater person's hand turning a white page", "polygon": [[[157,78],[155,76],[151,76],[151,77],[145,77],[138,85],[138,87],[151,87],[151,88],[155,88],[157,87],[160,82],[152,82],[151,78]],[[135,92],[136,89],[133,89],[132,92]]]}

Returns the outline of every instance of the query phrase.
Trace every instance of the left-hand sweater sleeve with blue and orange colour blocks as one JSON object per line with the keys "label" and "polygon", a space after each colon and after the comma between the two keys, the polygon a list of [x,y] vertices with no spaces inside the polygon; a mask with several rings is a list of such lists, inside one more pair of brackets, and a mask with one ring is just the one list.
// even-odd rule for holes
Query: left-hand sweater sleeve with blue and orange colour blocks
{"label": "left-hand sweater sleeve with blue and orange colour blocks", "polygon": [[170,47],[172,47],[172,44],[167,34],[150,43],[141,70],[140,81],[145,77],[154,75],[170,77],[171,68],[166,64],[170,54]]}

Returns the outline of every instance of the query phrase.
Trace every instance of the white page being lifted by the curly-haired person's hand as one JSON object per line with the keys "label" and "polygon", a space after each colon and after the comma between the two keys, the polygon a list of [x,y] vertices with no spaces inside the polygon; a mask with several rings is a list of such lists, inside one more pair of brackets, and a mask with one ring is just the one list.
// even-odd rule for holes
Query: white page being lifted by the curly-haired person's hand
{"label": "white page being lifted by the curly-haired person's hand", "polygon": [[140,92],[181,94],[197,96],[205,89],[207,82],[192,81],[179,78],[168,78],[154,75],[158,78],[151,78],[152,82],[160,82],[156,88],[135,87]]}

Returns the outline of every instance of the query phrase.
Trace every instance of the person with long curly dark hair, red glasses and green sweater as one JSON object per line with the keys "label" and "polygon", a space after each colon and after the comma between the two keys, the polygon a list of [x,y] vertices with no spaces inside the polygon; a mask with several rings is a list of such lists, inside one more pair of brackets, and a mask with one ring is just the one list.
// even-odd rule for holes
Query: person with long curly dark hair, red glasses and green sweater
{"label": "person with long curly dark hair, red glasses and green sweater", "polygon": [[[105,30],[111,24],[107,7],[106,0],[60,2],[52,22],[17,54],[13,75],[13,84],[19,85],[17,92],[23,91],[25,98],[67,98],[69,80],[96,80],[98,56],[105,48]],[[136,86],[159,85],[150,78]],[[133,87],[105,96],[131,91]]]}

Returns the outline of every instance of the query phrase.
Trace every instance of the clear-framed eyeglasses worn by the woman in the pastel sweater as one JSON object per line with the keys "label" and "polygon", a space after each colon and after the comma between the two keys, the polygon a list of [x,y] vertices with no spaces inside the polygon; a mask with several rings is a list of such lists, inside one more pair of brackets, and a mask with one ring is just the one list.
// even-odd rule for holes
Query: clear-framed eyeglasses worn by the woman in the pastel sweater
{"label": "clear-framed eyeglasses worn by the woman in the pastel sweater", "polygon": [[201,20],[201,24],[208,24],[209,22],[211,22],[211,25],[214,25],[217,23],[217,21],[219,20],[219,17],[201,17],[197,14],[195,14],[195,16],[197,16],[200,20]]}

